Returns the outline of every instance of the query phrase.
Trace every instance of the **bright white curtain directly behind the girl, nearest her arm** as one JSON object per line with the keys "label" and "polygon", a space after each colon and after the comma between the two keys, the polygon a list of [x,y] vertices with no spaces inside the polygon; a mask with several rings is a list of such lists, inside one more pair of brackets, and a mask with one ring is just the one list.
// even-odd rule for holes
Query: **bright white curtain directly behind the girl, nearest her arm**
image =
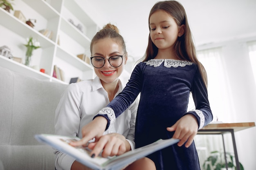
{"label": "bright white curtain directly behind the girl, nearest her arm", "polygon": [[[213,113],[213,121],[229,122],[232,120],[232,114],[234,114],[234,103],[223,64],[225,61],[222,60],[222,48],[198,51],[197,55],[207,72],[208,98]],[[230,137],[229,139],[225,137],[226,141],[230,141]],[[211,151],[223,151],[221,135],[197,135],[195,144],[202,170],[202,164]]]}

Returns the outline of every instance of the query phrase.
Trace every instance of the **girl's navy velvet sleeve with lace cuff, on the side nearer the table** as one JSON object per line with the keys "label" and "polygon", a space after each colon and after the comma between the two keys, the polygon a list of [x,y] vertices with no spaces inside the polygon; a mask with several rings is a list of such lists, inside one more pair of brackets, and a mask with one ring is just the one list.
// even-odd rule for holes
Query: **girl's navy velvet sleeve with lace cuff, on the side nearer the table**
{"label": "girl's navy velvet sleeve with lace cuff, on the side nearer the table", "polygon": [[208,100],[207,87],[198,70],[193,78],[191,92],[195,103],[195,110],[191,110],[188,113],[196,117],[198,120],[198,129],[201,129],[212,121],[213,115]]}

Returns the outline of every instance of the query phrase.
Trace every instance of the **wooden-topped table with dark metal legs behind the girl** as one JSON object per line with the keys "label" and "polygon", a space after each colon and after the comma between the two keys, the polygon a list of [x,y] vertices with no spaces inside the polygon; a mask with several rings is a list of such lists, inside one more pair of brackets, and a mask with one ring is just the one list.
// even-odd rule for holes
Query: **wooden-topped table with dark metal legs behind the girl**
{"label": "wooden-topped table with dark metal legs behind the girl", "polygon": [[[235,135],[234,132],[237,132],[239,130],[244,130],[247,128],[252,128],[255,126],[254,122],[244,122],[244,123],[211,123],[207,126],[204,126],[204,128],[198,130],[199,135],[222,135],[222,141],[223,141],[223,147],[224,147],[224,154],[226,155],[225,150],[225,143],[224,143],[224,137],[223,134],[230,132],[232,136],[232,142],[233,142],[233,148],[234,148],[234,155],[236,159],[236,168],[237,170],[240,170],[239,161],[238,161],[238,154],[236,150],[236,141],[235,141]],[[227,167],[227,160],[226,161],[226,168]]]}

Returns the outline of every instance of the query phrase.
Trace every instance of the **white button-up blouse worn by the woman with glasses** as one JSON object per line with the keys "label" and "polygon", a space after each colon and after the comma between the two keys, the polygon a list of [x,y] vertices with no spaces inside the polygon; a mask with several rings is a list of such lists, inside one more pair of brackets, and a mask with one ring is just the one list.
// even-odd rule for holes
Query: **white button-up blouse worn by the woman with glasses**
{"label": "white button-up blouse worn by the woman with glasses", "polygon": [[[118,83],[117,94],[123,89],[120,80]],[[70,84],[63,92],[56,108],[55,134],[82,138],[83,126],[92,121],[99,110],[107,106],[109,102],[108,93],[103,88],[99,77]],[[135,100],[123,114],[117,117],[115,123],[111,124],[103,135],[113,132],[120,133],[126,137],[131,148],[134,149],[137,106],[138,101]],[[56,170],[70,170],[75,159],[58,150],[55,150],[54,153]]]}

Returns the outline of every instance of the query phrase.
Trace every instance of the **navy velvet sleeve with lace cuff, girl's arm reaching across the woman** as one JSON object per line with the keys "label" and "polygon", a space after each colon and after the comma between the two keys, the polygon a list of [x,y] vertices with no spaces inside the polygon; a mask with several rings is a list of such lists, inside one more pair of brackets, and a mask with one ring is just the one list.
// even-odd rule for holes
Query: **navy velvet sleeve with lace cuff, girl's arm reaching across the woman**
{"label": "navy velvet sleeve with lace cuff, girl's arm reaching across the woman", "polygon": [[[108,120],[106,129],[115,122],[115,118],[128,108],[135,101],[141,91],[141,66],[139,63],[132,71],[131,77],[124,90],[119,93],[105,108],[95,116],[103,116]],[[94,118],[95,118],[94,117]]]}

